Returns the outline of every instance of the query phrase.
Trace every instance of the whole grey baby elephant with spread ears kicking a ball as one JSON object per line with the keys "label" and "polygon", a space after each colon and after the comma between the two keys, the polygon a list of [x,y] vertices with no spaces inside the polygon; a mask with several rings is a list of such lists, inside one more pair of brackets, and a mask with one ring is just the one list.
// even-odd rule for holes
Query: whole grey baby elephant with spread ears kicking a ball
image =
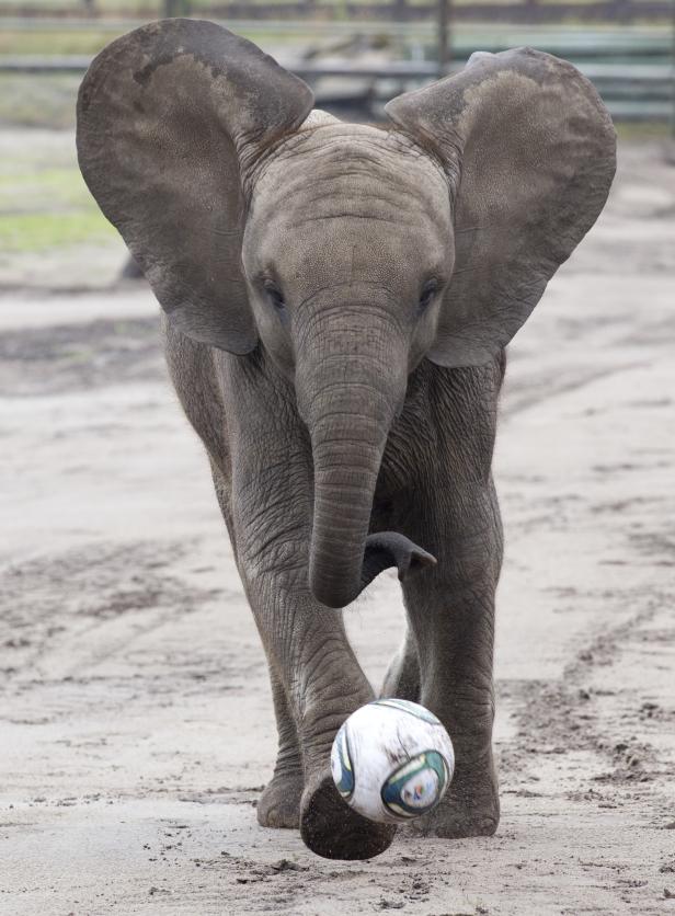
{"label": "whole grey baby elephant with spread ears kicking a ball", "polygon": [[393,835],[329,768],[374,697],[340,608],[388,566],[409,627],[382,692],[435,712],[457,757],[416,826],[496,829],[504,347],[615,170],[593,87],[529,48],[476,54],[386,111],[384,127],[312,111],[255,45],[190,20],[113,42],[78,104],[82,173],[163,308],[267,655],[279,748],[258,818],[346,859]]}

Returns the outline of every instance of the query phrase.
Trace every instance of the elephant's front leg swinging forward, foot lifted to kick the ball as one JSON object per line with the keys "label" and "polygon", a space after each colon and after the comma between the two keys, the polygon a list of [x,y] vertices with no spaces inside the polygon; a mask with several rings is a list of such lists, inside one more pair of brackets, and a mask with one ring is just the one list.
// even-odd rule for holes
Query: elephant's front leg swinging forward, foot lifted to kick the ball
{"label": "elephant's front leg swinging forward, foot lifted to kick the ball", "polygon": [[[347,642],[342,611],[319,604],[309,591],[311,469],[298,440],[284,444],[278,427],[276,432],[276,438],[270,435],[262,445],[259,440],[245,458],[234,456],[238,566],[273,672],[279,743],[288,749],[288,740],[291,746],[297,736],[302,838],[328,858],[370,858],[389,846],[394,831],[367,821],[342,801],[330,774],[330,752],[342,722],[373,699],[373,689]],[[293,728],[295,734],[288,732]],[[285,797],[283,818],[288,823],[287,800],[298,798],[297,766],[278,768],[261,799],[268,825]]]}

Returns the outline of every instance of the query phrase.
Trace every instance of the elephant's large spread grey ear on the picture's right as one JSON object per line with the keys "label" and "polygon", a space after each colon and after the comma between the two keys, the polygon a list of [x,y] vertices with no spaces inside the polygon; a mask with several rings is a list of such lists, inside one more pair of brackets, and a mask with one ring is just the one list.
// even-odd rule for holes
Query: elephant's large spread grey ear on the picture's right
{"label": "elephant's large spread grey ear on the picture's right", "polygon": [[476,54],[386,111],[449,179],[455,267],[427,356],[480,365],[597,219],[616,168],[614,126],[585,77],[530,48]]}

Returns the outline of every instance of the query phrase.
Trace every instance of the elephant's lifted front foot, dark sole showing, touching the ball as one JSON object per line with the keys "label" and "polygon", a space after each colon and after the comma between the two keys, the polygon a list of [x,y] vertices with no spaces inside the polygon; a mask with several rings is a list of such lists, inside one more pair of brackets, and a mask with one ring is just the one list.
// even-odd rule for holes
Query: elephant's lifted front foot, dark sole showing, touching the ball
{"label": "elephant's lifted front foot, dark sole showing, touching the ball", "polygon": [[325,859],[371,859],[391,844],[396,827],[357,814],[340,798],[329,771],[310,780],[300,808],[300,835]]}

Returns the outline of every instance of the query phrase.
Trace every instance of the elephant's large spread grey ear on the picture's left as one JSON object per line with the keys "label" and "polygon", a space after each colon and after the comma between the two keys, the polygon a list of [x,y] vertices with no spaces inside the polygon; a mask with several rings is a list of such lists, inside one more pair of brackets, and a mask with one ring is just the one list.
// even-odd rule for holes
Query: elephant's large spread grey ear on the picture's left
{"label": "elephant's large spread grey ear on the picture's left", "polygon": [[93,61],[78,100],[80,169],[180,331],[256,343],[241,267],[241,162],[311,111],[297,77],[210,22],[164,20]]}

